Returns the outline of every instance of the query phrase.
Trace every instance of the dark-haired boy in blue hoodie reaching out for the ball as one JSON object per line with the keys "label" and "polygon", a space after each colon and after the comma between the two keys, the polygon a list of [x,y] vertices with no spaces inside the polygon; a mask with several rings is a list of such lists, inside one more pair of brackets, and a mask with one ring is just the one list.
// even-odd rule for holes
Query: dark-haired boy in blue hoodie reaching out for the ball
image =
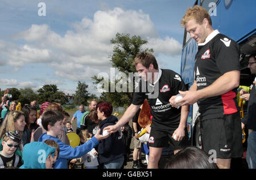
{"label": "dark-haired boy in blue hoodie reaching out for the ball", "polygon": [[93,136],[88,142],[73,148],[71,145],[66,145],[57,138],[60,134],[61,128],[63,128],[63,114],[55,110],[49,110],[43,114],[42,125],[47,130],[39,138],[39,142],[43,142],[46,139],[55,140],[59,144],[60,153],[59,157],[53,165],[54,169],[68,169],[68,159],[78,158],[91,151],[96,145],[98,145],[101,139],[107,138],[109,135],[100,135],[100,131]]}

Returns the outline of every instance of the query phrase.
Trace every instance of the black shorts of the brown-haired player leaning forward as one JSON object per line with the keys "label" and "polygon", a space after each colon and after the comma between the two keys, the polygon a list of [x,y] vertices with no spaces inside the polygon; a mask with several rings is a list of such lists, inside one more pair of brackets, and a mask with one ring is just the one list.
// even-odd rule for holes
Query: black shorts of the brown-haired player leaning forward
{"label": "black shorts of the brown-haired player leaning forward", "polygon": [[148,140],[148,146],[155,148],[163,148],[168,147],[169,143],[171,144],[171,148],[173,150],[183,149],[187,147],[189,144],[188,140],[188,130],[185,127],[185,136],[181,141],[176,141],[172,138],[172,134],[174,134],[175,130],[158,130],[155,128],[151,128],[150,138]]}

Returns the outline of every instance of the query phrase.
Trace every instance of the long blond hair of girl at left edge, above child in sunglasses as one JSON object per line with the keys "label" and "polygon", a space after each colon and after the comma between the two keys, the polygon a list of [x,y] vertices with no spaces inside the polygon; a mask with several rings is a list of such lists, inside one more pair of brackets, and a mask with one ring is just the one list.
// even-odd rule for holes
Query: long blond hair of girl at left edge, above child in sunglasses
{"label": "long blond hair of girl at left edge, above child in sunglasses", "polygon": [[[5,134],[5,132],[15,131],[14,123],[17,121],[17,119],[21,115],[24,115],[24,113],[18,110],[13,110],[6,115],[5,121],[3,121],[0,127],[0,139],[3,138],[3,135]],[[19,135],[20,135],[20,138],[22,138],[22,132],[19,132]]]}

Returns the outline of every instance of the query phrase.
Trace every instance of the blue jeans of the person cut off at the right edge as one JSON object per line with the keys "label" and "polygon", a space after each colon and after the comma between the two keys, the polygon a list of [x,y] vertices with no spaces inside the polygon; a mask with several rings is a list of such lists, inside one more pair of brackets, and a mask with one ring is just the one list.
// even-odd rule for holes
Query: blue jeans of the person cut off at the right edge
{"label": "blue jeans of the person cut off at the right edge", "polygon": [[252,131],[247,139],[246,161],[249,169],[256,169],[256,131]]}

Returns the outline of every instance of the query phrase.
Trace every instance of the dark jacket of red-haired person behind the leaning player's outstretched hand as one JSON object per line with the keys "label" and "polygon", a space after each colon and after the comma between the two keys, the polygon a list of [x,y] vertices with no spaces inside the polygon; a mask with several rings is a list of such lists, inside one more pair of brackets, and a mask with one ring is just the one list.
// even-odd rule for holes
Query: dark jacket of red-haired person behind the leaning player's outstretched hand
{"label": "dark jacket of red-haired person behind the leaning player's outstretched hand", "polygon": [[[100,134],[102,135],[103,129],[106,126],[115,125],[118,121],[117,117],[110,115],[110,117],[100,122]],[[113,161],[125,154],[125,147],[123,145],[121,130],[114,132],[108,138],[100,141],[97,147],[98,159],[100,163]]]}

